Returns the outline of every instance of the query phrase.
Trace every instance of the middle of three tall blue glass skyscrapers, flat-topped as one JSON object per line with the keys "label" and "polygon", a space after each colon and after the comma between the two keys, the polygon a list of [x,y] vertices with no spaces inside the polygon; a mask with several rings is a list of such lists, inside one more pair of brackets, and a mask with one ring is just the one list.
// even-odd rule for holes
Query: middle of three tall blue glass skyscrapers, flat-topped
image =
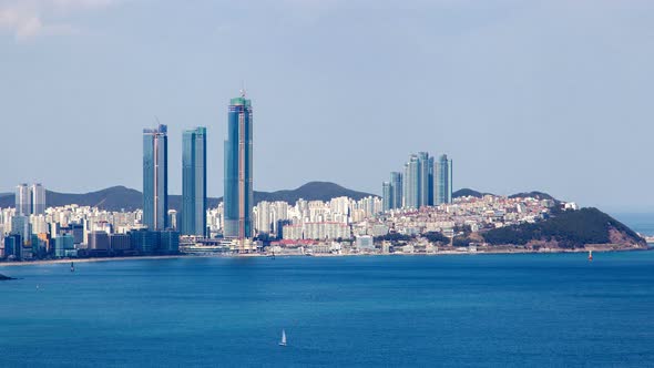
{"label": "middle of three tall blue glass skyscrapers, flat-topped", "polygon": [[206,235],[206,127],[182,139],[182,235]]}

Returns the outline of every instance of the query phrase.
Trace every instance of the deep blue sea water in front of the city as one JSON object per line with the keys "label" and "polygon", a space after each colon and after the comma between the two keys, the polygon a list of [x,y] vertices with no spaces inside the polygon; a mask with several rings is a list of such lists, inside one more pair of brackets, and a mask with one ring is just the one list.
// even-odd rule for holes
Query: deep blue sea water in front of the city
{"label": "deep blue sea water in front of the city", "polygon": [[[0,267],[0,367],[643,367],[654,252]],[[38,288],[37,288],[38,286]],[[277,345],[282,329],[288,346]]]}

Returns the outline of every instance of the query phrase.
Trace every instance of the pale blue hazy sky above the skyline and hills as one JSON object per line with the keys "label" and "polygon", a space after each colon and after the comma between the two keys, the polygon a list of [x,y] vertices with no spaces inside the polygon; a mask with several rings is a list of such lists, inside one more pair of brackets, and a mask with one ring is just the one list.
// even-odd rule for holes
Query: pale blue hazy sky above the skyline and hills
{"label": "pale blue hazy sky above the skyline and hills", "polygon": [[255,190],[380,194],[411,153],[454,188],[654,209],[654,1],[0,0],[0,192],[142,187],[142,130],[254,109]]}

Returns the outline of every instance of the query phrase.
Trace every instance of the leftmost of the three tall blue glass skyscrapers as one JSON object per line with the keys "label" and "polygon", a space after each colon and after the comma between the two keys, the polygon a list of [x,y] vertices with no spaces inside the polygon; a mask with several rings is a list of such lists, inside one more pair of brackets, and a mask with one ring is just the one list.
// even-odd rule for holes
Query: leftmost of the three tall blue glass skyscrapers
{"label": "leftmost of the three tall blue glass skyscrapers", "polygon": [[151,231],[167,227],[168,137],[167,126],[143,130],[143,223]]}

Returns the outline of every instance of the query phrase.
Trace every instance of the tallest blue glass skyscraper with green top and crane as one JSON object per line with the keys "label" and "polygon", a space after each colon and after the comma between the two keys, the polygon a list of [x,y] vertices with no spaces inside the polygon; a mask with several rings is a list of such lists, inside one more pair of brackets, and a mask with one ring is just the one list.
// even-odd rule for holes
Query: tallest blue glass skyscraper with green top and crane
{"label": "tallest blue glass skyscraper with green top and crane", "polygon": [[225,141],[225,237],[252,237],[252,102],[239,98],[231,100],[227,140]]}

